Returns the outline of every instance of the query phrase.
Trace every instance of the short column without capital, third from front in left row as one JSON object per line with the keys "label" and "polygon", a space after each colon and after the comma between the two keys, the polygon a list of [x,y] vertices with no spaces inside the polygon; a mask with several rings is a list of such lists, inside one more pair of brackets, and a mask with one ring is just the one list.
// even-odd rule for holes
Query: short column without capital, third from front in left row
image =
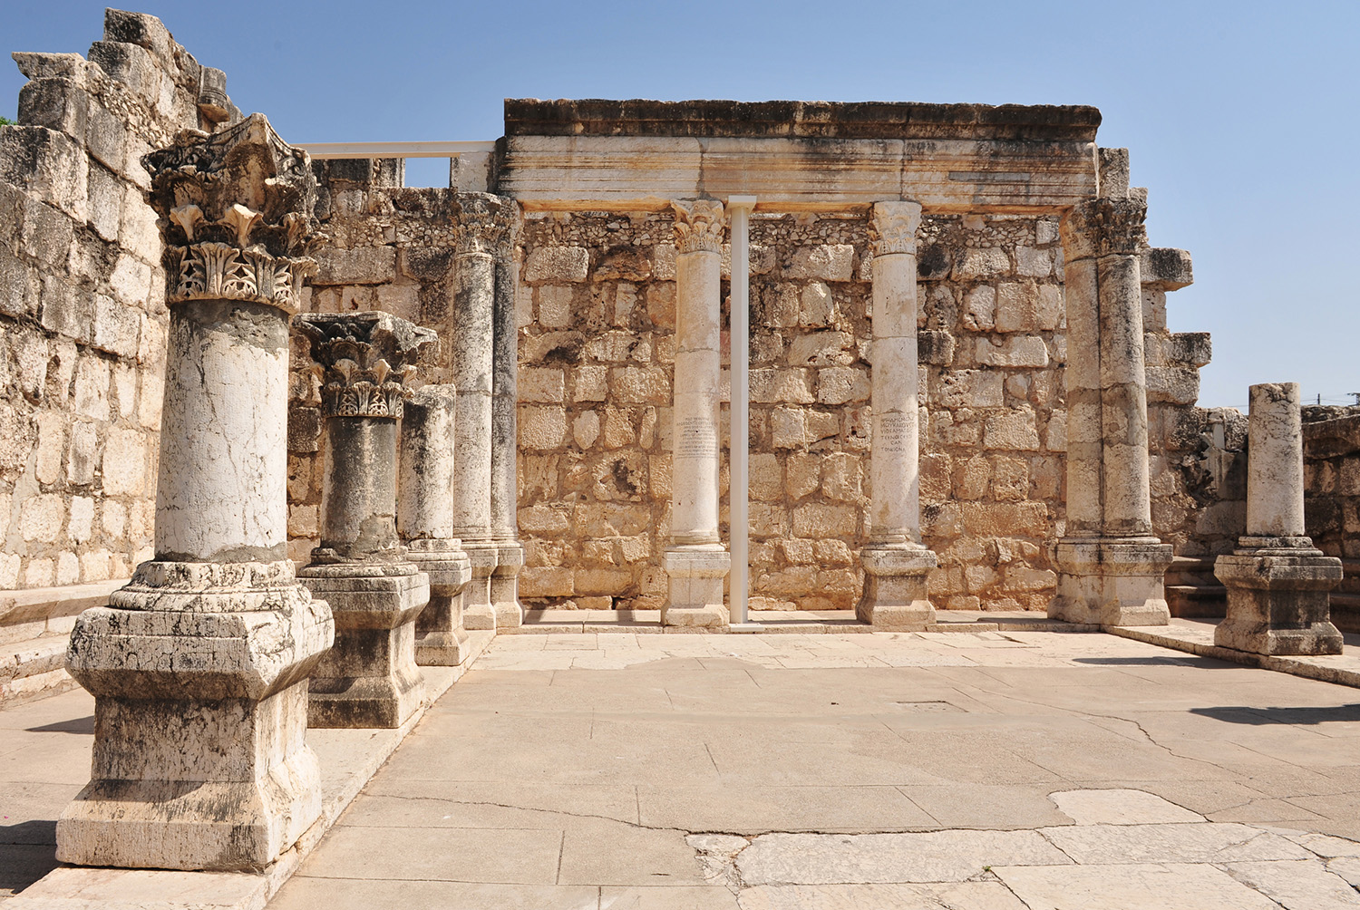
{"label": "short column without capital, third from front in left row", "polygon": [[416,664],[457,667],[468,658],[462,596],[472,563],[453,536],[452,385],[427,385],[405,403],[401,416],[401,479],[397,535],[407,558],[430,577],[430,604],[416,618]]}

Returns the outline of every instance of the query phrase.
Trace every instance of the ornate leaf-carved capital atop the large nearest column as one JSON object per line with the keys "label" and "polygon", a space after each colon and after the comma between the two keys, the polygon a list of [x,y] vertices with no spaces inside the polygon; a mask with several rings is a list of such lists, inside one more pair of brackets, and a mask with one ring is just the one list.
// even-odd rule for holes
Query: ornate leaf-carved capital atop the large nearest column
{"label": "ornate leaf-carved capital atop the large nearest column", "polygon": [[169,303],[235,299],[298,310],[311,249],[324,238],[317,182],[301,148],[264,114],[216,133],[182,131],[141,159],[159,215]]}

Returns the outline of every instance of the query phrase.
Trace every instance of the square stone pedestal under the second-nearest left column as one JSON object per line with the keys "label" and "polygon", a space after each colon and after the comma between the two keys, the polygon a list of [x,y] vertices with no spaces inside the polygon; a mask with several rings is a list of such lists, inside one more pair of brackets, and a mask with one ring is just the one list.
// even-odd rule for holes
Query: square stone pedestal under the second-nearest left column
{"label": "square stone pedestal under the second-nearest left column", "polygon": [[336,643],[311,675],[309,726],[401,726],[424,698],[416,616],[430,579],[413,563],[311,564],[298,578],[330,604]]}

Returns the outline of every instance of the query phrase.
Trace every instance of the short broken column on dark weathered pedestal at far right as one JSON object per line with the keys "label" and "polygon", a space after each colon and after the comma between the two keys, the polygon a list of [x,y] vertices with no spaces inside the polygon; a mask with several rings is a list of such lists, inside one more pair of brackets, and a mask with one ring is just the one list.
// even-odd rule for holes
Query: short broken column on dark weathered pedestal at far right
{"label": "short broken column on dark weathered pedestal at far right", "polygon": [[1299,384],[1251,386],[1247,423],[1247,533],[1213,574],[1228,588],[1220,647],[1255,654],[1340,654],[1330,592],[1341,560],[1323,556],[1303,524]]}

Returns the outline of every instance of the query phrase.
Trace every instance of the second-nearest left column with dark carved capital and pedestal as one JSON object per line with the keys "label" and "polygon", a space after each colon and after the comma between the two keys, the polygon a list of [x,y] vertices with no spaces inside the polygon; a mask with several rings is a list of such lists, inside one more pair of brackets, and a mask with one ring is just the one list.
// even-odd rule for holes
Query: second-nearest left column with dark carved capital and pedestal
{"label": "second-nearest left column with dark carved capital and pedestal", "polygon": [[400,726],[420,706],[416,616],[430,579],[397,539],[397,422],[422,348],[438,344],[389,313],[295,320],[320,365],[326,420],[321,541],[298,575],[325,597],[335,647],[311,675],[311,726]]}

